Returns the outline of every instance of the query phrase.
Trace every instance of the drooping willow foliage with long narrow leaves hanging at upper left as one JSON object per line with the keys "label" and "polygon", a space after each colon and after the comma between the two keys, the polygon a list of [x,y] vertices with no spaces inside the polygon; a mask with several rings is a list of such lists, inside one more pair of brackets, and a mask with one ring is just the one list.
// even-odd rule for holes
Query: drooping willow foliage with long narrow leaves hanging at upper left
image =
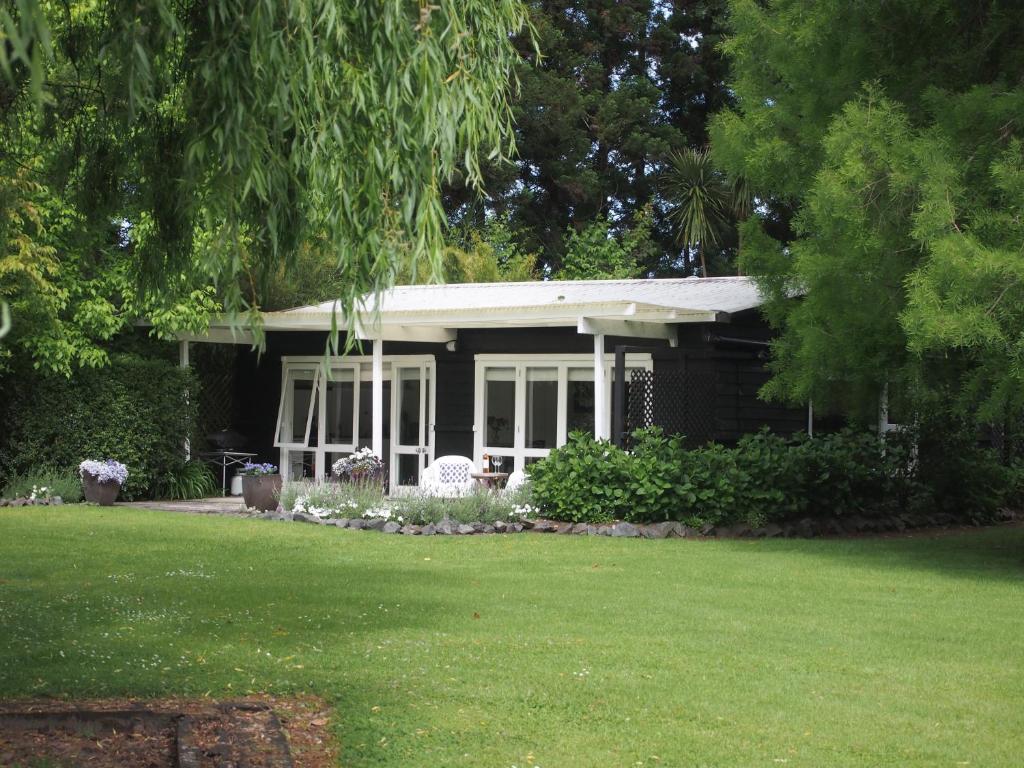
{"label": "drooping willow foliage with long narrow leaves hanging at upper left", "polygon": [[[401,264],[439,271],[442,184],[459,169],[478,187],[481,161],[511,154],[524,26],[518,0],[5,4],[0,178],[16,194],[0,220],[57,263],[49,287],[0,268],[14,343],[38,336],[26,292],[52,289],[44,325],[65,348],[37,360],[100,361],[94,342],[133,311],[201,325],[208,284],[244,309],[313,240],[345,305]],[[33,196],[49,215],[11,214]],[[123,285],[79,296],[112,265]]]}

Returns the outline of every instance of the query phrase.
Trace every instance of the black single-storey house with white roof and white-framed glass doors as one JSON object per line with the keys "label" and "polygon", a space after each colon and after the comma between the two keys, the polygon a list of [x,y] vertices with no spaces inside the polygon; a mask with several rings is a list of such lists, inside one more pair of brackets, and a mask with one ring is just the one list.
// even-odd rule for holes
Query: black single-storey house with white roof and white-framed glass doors
{"label": "black single-storey house with white roof and white-framed glass doors", "polygon": [[[760,304],[748,278],[687,278],[402,287],[367,297],[350,323],[333,302],[267,312],[264,352],[238,358],[233,426],[290,477],[370,446],[392,488],[417,484],[435,456],[521,470],[578,429],[620,440],[658,424],[691,442],[793,432],[805,409],[757,397]],[[353,329],[351,353],[325,355],[333,319]],[[248,341],[217,324],[190,340]]]}

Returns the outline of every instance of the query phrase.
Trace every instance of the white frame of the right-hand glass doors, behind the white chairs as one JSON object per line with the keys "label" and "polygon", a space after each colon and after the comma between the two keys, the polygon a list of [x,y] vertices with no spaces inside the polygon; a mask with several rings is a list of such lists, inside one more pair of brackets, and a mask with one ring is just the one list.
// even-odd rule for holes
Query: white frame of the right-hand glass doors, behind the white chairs
{"label": "white frame of the right-hand glass doors, behind the white chairs", "polygon": [[[551,449],[536,449],[526,446],[526,369],[549,368],[557,369],[558,376],[558,424],[555,432],[555,444],[564,445],[568,439],[567,413],[565,398],[568,392],[569,369],[584,369],[591,372],[593,381],[593,354],[477,354],[474,356],[474,416],[473,416],[473,461],[483,467],[483,454],[511,457],[512,465],[506,464],[502,471],[518,471],[525,466],[525,460],[543,458],[551,453]],[[609,403],[606,410],[608,433],[611,431],[611,392],[613,387],[615,355],[604,355],[604,398]],[[485,443],[486,421],[484,415],[484,376],[488,368],[512,368],[515,370],[515,423],[513,424],[512,447],[490,446]],[[646,352],[631,352],[626,355],[626,370],[652,371],[653,359]],[[595,404],[597,392],[594,393]],[[595,429],[598,426],[595,423]]]}

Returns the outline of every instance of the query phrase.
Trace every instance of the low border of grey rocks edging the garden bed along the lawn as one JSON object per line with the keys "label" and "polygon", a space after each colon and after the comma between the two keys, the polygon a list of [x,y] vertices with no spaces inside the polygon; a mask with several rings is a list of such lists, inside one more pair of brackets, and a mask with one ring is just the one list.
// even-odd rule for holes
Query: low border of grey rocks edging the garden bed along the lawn
{"label": "low border of grey rocks edging the garden bed along the lawn", "polygon": [[[885,518],[862,517],[805,517],[800,520],[785,521],[781,524],[768,523],[760,527],[751,527],[742,523],[735,525],[705,525],[693,528],[681,522],[609,522],[593,524],[584,522],[560,522],[546,519],[522,519],[495,523],[459,523],[454,520],[441,520],[426,525],[401,524],[385,521],[380,518],[329,518],[323,520],[301,512],[267,512],[257,515],[264,520],[305,522],[314,525],[333,525],[338,528],[352,530],[377,530],[382,534],[400,534],[403,536],[474,536],[479,534],[561,534],[574,536],[607,536],[616,539],[814,539],[817,537],[849,537],[858,535],[902,532],[914,528],[943,528],[964,525],[985,525],[992,520],[978,518],[957,518],[947,513],[910,514],[904,513]],[[1017,510],[1004,509],[994,522],[1024,521],[1024,513]]]}

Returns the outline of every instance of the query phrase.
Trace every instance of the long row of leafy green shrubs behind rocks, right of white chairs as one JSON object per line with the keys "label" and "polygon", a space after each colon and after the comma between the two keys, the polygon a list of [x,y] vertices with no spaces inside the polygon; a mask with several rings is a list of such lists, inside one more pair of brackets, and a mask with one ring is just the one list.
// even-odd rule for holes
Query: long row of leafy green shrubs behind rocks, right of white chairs
{"label": "long row of leafy green shrubs behind rocks, right of white chairs", "polygon": [[[930,507],[961,517],[993,514],[1015,493],[1013,471],[961,439],[846,430],[785,439],[768,431],[735,447],[687,451],[660,430],[634,435],[626,452],[590,435],[530,468],[535,504],[559,520],[680,520],[723,525],[833,515],[885,515]],[[915,447],[916,446],[916,447]],[[955,447],[955,450],[951,450]]]}

